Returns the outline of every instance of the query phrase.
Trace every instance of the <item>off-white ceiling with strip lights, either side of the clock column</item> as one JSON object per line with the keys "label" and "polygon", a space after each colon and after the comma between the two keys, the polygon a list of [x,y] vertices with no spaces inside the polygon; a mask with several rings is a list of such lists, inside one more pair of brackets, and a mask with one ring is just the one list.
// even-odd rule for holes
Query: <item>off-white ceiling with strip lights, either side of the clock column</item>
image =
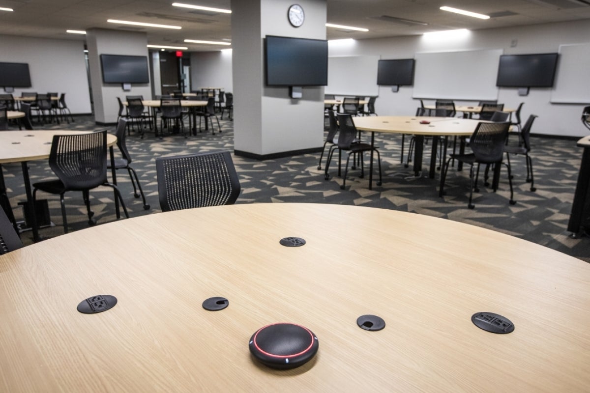
{"label": "off-white ceiling with strip lights, either side of the clock column", "polygon": [[[145,31],[149,44],[182,45],[189,47],[189,51],[211,51],[220,47],[185,44],[185,38],[214,41],[231,39],[230,14],[177,8],[171,5],[173,1],[0,0],[0,7],[14,9],[14,12],[0,11],[0,34],[83,40],[84,36],[67,34],[65,29],[107,28]],[[230,8],[230,0],[181,2]],[[439,7],[442,5],[468,9],[492,17],[482,20],[452,14],[440,11]],[[179,25],[182,29],[131,27],[107,23],[107,19]],[[340,31],[334,28],[326,28],[326,31],[328,39],[363,39],[417,35],[441,29],[476,30],[578,19],[590,19],[590,0],[327,0],[327,22],[365,27],[369,32]]]}

